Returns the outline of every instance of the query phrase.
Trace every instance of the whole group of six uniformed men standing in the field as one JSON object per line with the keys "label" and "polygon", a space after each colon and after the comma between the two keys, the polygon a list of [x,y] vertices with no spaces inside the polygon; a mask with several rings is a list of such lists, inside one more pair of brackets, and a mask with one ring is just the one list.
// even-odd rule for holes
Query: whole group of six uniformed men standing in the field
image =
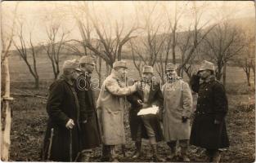
{"label": "whole group of six uniformed men standing in the field", "polygon": [[[214,77],[212,63],[204,60],[190,84],[178,77],[176,65],[168,64],[167,80],[161,86],[153,80],[154,70],[147,65],[140,81],[127,84],[128,65],[123,60],[116,61],[110,76],[103,81],[97,104],[91,83],[94,66],[94,59],[88,55],[66,60],[63,74],[50,86],[44,161],[89,161],[92,149],[100,146],[101,161],[119,161],[115,147],[125,144],[125,99],[131,104],[128,119],[136,147],[132,158],[142,156],[141,140],[149,139],[157,162],[165,161],[157,150],[160,141],[170,148],[171,161],[177,156],[177,142],[182,161],[190,161],[190,144],[206,148],[209,161],[220,160],[222,149],[229,146],[225,125],[227,96]],[[191,90],[198,94],[195,112]],[[159,108],[156,114],[137,115],[142,108],[154,106]]]}

